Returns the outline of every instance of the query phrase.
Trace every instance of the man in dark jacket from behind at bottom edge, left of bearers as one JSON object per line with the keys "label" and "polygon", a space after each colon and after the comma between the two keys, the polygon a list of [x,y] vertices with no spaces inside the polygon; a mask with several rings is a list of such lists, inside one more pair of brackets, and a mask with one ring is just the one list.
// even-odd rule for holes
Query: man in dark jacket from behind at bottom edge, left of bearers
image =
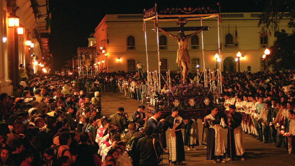
{"label": "man in dark jacket from behind at bottom edge, left of bearers", "polygon": [[163,149],[158,139],[152,137],[153,127],[146,126],[145,137],[138,140],[136,149],[139,152],[139,165],[158,165],[157,158],[163,153]]}

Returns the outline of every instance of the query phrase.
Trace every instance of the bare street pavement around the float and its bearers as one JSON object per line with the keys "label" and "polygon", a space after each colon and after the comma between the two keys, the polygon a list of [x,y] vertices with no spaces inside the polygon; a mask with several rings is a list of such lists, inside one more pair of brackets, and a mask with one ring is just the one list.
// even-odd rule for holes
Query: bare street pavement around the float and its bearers
{"label": "bare street pavement around the float and its bearers", "polygon": [[[123,107],[129,115],[129,120],[132,119],[132,114],[137,110],[141,102],[124,97],[120,93],[106,92],[102,93],[102,115],[109,116],[117,112],[118,107]],[[202,122],[198,119],[199,142],[202,136]],[[227,129],[222,129],[222,134],[227,150]],[[169,131],[167,131],[167,143]],[[233,163],[215,163],[223,165],[295,165],[295,155],[288,154],[283,148],[276,148],[272,143],[262,143],[248,134],[243,134],[243,144],[246,150],[246,160],[234,160]],[[197,146],[197,150],[187,150],[185,146],[185,161],[186,165],[215,165],[211,160],[206,160],[206,149],[204,145]],[[168,153],[163,155],[163,164],[168,165]]]}

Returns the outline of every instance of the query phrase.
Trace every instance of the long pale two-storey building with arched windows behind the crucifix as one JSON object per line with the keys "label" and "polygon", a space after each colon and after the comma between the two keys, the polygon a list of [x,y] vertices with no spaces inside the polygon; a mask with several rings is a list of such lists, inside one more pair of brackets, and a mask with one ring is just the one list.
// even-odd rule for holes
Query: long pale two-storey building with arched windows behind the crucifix
{"label": "long pale two-storey building with arched windows behind the crucifix", "polygon": [[[240,71],[257,72],[264,69],[265,60],[262,60],[262,55],[264,50],[272,45],[274,34],[262,32],[257,26],[259,15],[261,13],[222,13],[222,23],[220,23],[222,70],[238,70],[238,62],[235,61],[238,52],[244,57],[240,60]],[[290,32],[287,22],[286,18],[283,19],[280,29]],[[200,21],[188,21],[185,25],[185,27],[192,26],[200,26]],[[203,32],[205,67],[213,69],[216,68],[214,55],[218,53],[217,18],[203,20],[203,26],[210,28],[209,31]],[[157,35],[152,30],[154,22],[146,22],[146,27],[149,67],[150,71],[154,71],[158,69]],[[178,26],[174,21],[160,22],[159,27]],[[178,32],[171,33],[176,35]],[[186,35],[191,33],[193,31],[185,32]],[[176,64],[177,41],[162,32],[159,32],[159,36],[161,70],[179,70]],[[136,70],[136,64],[140,62],[145,65],[144,71],[146,70],[142,15],[106,15],[95,29],[94,37],[99,52],[96,62],[100,68],[106,67],[108,72]],[[201,34],[189,40],[189,54],[191,72],[195,72],[198,68],[202,70]]]}

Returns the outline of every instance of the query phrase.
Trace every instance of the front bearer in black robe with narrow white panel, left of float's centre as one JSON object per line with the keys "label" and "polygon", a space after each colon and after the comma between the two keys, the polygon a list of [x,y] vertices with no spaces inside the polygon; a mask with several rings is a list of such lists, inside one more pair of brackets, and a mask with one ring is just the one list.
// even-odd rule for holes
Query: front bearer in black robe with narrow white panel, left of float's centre
{"label": "front bearer in black robe with narrow white panel, left of float's centre", "polygon": [[181,129],[185,128],[188,121],[182,120],[182,117],[178,116],[178,108],[173,107],[171,112],[172,115],[165,119],[165,125],[170,128],[169,162],[183,165],[182,161],[185,160],[185,154]]}

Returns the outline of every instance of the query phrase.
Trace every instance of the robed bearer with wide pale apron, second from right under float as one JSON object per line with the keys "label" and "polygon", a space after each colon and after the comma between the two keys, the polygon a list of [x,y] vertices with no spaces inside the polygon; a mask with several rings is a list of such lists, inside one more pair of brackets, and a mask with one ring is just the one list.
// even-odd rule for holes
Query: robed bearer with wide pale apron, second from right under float
{"label": "robed bearer with wide pale apron, second from right under float", "polygon": [[217,163],[219,158],[220,162],[226,162],[223,158],[226,158],[226,149],[224,139],[221,133],[220,117],[217,115],[218,110],[214,108],[211,110],[211,114],[205,116],[204,126],[208,128],[207,133],[207,160],[213,160],[213,163]]}

